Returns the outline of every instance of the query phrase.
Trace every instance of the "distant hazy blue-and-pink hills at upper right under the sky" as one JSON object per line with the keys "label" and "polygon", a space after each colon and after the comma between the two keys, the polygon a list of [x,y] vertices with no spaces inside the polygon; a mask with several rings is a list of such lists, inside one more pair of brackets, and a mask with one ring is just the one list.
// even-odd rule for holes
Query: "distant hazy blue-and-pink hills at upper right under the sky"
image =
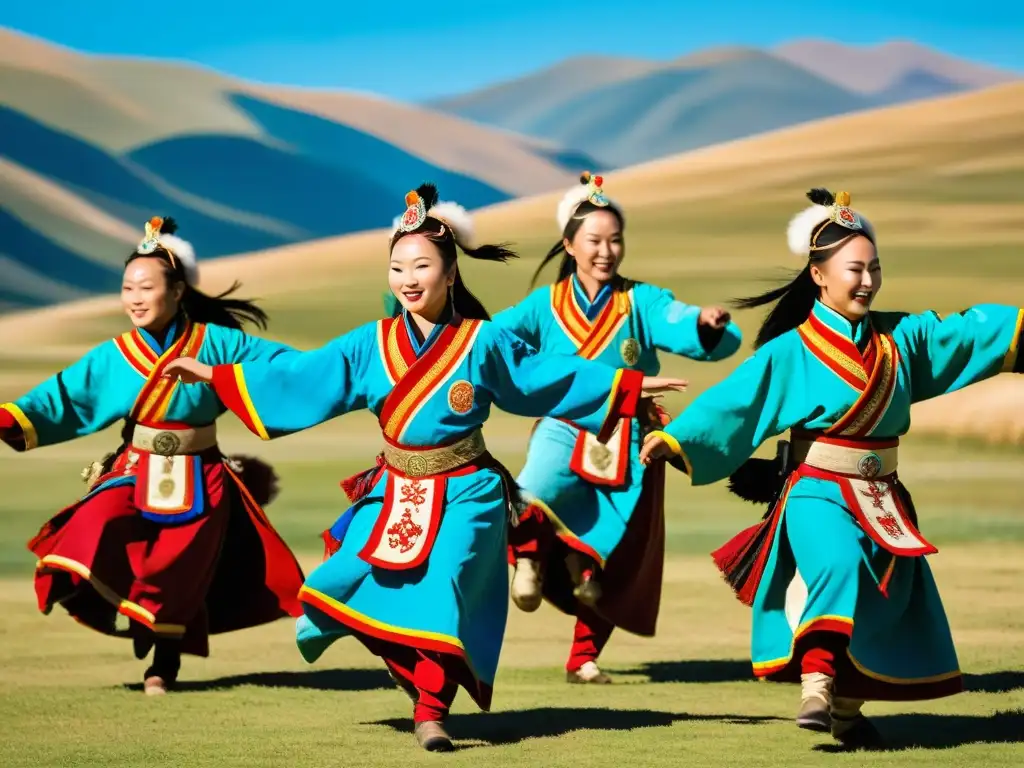
{"label": "distant hazy blue-and-pink hills at upper right under the sky", "polygon": [[910,43],[796,42],[673,61],[581,57],[430,102],[453,115],[628,166],[833,115],[1014,79]]}

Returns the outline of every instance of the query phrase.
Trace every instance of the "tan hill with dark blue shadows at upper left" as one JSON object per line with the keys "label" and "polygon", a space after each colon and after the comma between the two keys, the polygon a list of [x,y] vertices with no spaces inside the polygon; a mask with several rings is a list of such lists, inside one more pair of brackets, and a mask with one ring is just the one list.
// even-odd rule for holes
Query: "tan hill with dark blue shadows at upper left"
{"label": "tan hill with dark blue shadows at upper left", "polygon": [[205,256],[382,226],[423,180],[478,207],[589,159],[385,99],[87,56],[0,30],[0,310],[114,290],[141,222]]}

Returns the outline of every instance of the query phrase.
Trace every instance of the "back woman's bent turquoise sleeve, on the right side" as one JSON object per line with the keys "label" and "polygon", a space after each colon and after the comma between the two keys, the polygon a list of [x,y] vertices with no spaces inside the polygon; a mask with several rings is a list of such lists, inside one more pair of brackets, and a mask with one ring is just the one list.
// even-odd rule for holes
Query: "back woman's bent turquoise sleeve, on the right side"
{"label": "back woman's bent turquoise sleeve, on the right side", "polygon": [[700,307],[684,304],[666,289],[639,288],[634,296],[641,304],[650,343],[656,348],[706,362],[725,359],[739,349],[743,336],[732,321],[723,329],[701,327]]}

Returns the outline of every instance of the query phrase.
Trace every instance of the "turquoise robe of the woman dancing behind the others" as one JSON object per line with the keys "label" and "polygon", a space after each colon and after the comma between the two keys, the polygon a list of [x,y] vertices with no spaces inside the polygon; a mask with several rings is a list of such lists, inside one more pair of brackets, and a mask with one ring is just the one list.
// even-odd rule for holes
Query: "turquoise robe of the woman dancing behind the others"
{"label": "turquoise robe of the woman dancing behind the others", "polygon": [[[706,347],[699,315],[700,307],[644,283],[605,286],[590,302],[573,274],[534,291],[498,313],[495,322],[542,352],[625,365],[656,376],[662,370],[658,350],[713,361],[739,348],[741,334],[732,323]],[[584,461],[592,440],[571,424],[543,419],[517,478],[524,496],[545,511],[563,540],[601,564],[622,541],[640,498],[641,437],[637,420],[627,420],[608,442],[614,458],[602,473]]]}

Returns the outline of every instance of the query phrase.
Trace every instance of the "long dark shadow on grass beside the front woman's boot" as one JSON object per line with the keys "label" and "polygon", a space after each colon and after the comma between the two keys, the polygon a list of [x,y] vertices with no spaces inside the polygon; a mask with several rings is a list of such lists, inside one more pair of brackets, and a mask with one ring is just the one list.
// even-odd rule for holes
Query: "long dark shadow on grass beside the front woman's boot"
{"label": "long dark shadow on grass beside the front woman's boot", "polygon": [[[718,722],[734,725],[761,725],[785,718],[746,717],[742,715],[689,715],[651,710],[569,709],[542,707],[536,710],[452,715],[445,728],[457,741],[482,741],[484,744],[519,743],[530,738],[561,736],[571,731],[627,731],[635,728],[662,728],[681,722]],[[410,718],[379,720],[369,725],[383,725],[411,733]],[[471,749],[473,744],[458,744]]]}

